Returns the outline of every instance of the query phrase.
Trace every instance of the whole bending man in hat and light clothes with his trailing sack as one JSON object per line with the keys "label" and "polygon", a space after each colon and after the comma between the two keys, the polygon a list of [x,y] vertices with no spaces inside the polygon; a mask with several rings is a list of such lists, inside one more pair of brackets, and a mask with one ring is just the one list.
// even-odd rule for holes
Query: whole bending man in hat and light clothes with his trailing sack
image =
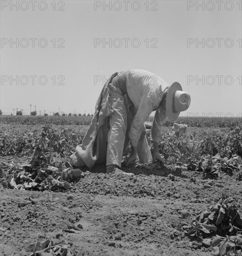
{"label": "whole bending man in hat and light clothes with his trailing sack", "polygon": [[[169,86],[161,77],[141,69],[115,73],[102,89],[92,124],[71,156],[71,163],[92,168],[94,164],[106,162],[108,174],[133,175],[120,169],[129,142],[132,153],[125,163],[127,166],[137,157],[144,163],[152,162],[152,158],[164,163],[158,152],[160,127],[167,118],[174,121],[189,105],[189,94],[177,82]],[[151,156],[144,123],[153,111]]]}

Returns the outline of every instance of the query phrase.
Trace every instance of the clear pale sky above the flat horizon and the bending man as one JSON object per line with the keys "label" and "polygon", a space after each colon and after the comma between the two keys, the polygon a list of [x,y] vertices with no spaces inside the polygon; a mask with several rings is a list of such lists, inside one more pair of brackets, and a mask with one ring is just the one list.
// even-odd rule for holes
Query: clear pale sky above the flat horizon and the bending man
{"label": "clear pale sky above the flat horizon and the bending man", "polygon": [[[190,93],[190,108],[181,116],[241,116],[241,1],[232,1],[233,6],[228,1],[220,6],[218,1],[214,6],[212,1],[113,1],[115,5],[105,7],[109,2],[1,0],[3,112],[19,108],[29,114],[31,104],[38,114],[59,108],[67,114],[91,114],[105,79],[139,68],[169,84],[178,81]],[[12,44],[16,39],[17,45]],[[109,40],[111,45],[103,46]],[[39,84],[41,75],[46,85],[44,77]]]}

